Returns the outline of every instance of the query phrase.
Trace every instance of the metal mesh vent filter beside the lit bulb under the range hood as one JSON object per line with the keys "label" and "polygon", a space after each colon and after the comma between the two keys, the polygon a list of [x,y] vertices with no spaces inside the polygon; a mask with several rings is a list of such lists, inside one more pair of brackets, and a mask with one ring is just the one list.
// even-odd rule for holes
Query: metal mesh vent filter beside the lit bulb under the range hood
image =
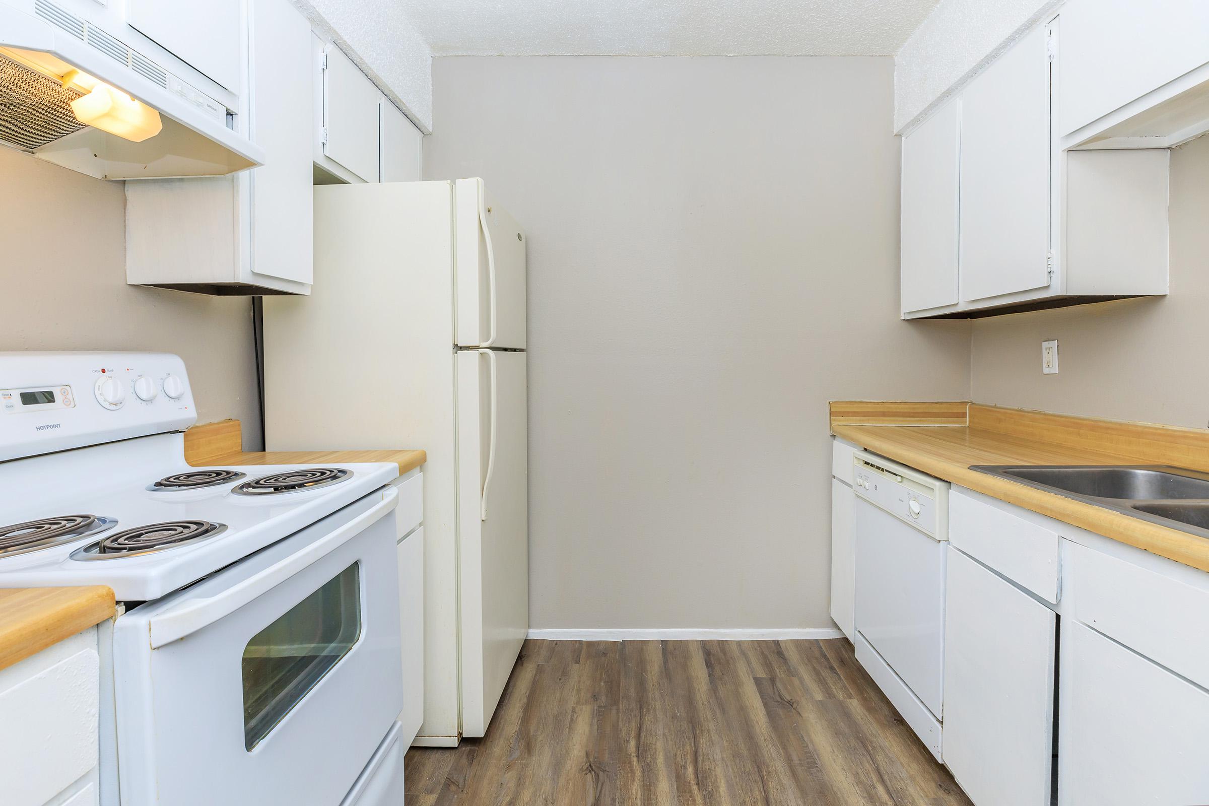
{"label": "metal mesh vent filter beside the lit bulb under the range hood", "polygon": [[85,128],[71,114],[80,93],[0,56],[0,140],[33,151]]}

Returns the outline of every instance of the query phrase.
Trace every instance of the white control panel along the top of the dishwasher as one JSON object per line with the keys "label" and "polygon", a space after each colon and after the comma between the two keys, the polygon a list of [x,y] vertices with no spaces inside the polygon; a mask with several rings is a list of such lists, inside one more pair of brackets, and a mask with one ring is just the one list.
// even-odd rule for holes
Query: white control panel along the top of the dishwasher
{"label": "white control panel along the top of the dishwasher", "polygon": [[852,491],[936,540],[949,539],[949,482],[857,453],[852,457]]}

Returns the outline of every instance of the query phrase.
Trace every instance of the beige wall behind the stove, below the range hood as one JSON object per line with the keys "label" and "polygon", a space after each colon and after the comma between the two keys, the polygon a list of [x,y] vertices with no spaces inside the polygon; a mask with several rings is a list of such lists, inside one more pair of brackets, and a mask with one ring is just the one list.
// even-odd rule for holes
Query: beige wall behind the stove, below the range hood
{"label": "beige wall behind the stove, below the range hood", "polygon": [[251,302],[126,284],[126,193],[0,147],[0,350],[163,350],[185,359],[198,422],[260,445]]}

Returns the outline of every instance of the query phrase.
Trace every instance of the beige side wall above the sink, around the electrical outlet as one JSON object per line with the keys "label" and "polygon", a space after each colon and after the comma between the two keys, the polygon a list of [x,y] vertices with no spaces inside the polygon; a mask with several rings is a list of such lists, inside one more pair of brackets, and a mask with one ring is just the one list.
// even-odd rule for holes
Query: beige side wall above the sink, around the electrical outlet
{"label": "beige side wall above the sink, around the electrical outlet", "polygon": [[[1172,151],[1170,296],[983,319],[979,402],[1204,428],[1209,422],[1209,137]],[[1041,342],[1058,340],[1058,375]]]}

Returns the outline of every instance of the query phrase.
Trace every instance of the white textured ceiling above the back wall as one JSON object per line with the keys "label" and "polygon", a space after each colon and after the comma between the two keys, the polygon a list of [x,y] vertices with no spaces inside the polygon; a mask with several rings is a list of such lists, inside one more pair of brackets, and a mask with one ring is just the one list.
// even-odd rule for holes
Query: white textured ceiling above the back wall
{"label": "white textured ceiling above the back wall", "polygon": [[395,0],[435,56],[890,56],[938,0]]}

